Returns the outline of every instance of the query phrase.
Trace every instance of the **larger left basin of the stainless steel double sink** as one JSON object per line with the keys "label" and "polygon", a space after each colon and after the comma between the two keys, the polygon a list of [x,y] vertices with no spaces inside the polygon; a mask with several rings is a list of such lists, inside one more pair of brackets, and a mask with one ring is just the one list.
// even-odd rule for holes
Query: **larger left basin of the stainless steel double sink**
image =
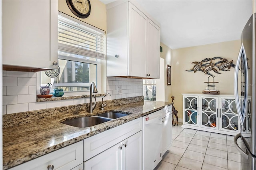
{"label": "larger left basin of the stainless steel double sink", "polygon": [[70,119],[62,123],[73,126],[73,127],[84,128],[84,127],[91,127],[94,125],[98,125],[100,123],[104,123],[111,120],[113,119],[109,119],[106,117],[90,116],[90,117],[79,117],[75,119]]}

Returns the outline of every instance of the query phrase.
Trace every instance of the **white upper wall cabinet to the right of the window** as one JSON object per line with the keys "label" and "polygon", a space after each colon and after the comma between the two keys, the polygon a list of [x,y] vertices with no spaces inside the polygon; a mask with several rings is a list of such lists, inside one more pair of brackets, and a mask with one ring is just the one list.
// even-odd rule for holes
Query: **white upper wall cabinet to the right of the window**
{"label": "white upper wall cabinet to the right of the window", "polygon": [[159,78],[160,28],[131,2],[107,8],[107,76]]}

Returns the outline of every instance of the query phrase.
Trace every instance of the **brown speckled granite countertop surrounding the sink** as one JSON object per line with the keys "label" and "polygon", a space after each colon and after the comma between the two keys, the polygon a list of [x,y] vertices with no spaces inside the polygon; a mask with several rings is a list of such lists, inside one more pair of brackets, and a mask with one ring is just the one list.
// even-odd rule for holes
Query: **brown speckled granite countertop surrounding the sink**
{"label": "brown speckled granite countertop surrounding the sink", "polygon": [[[110,128],[148,115],[171,104],[170,102],[160,101],[138,101],[125,105],[106,106],[104,111],[95,109],[94,113],[85,111],[76,114],[62,113],[55,117],[45,116],[29,121],[27,120],[28,116],[23,116],[20,119],[26,119],[26,123],[4,126],[3,128],[3,168],[5,170],[22,164]],[[130,114],[88,128],[72,127],[60,123],[64,120],[97,115],[108,111],[120,111]],[[15,118],[18,120],[18,115],[15,115]]]}

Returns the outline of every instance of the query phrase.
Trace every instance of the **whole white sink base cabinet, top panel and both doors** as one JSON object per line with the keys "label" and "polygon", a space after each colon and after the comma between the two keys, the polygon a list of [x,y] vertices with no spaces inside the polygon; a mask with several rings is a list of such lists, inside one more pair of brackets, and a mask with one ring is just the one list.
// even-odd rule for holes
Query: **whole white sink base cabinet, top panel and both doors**
{"label": "whole white sink base cabinet, top panel and both doors", "polygon": [[84,139],[88,169],[142,169],[142,117]]}

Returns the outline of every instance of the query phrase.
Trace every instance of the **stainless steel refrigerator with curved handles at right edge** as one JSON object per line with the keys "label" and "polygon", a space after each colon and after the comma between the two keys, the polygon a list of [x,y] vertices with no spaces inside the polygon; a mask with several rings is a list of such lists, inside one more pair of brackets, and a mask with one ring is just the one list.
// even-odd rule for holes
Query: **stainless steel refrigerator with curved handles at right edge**
{"label": "stainless steel refrigerator with curved handles at right edge", "polygon": [[234,143],[242,154],[242,170],[256,170],[256,115],[255,115],[255,14],[242,32],[242,43],[234,75],[234,95],[241,122],[241,132]]}

